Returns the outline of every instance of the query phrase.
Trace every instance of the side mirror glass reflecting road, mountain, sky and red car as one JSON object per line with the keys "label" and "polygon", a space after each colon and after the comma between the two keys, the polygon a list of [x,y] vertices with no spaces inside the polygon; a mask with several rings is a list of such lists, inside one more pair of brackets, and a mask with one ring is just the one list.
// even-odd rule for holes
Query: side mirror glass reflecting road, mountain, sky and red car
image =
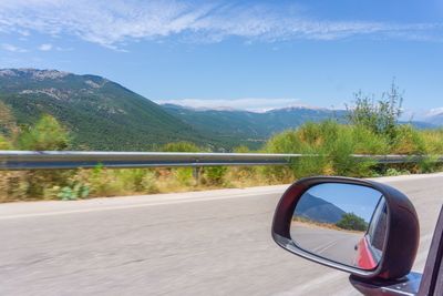
{"label": "side mirror glass reflecting road, mountain, sky and red car", "polygon": [[290,234],[293,243],[309,253],[370,271],[381,259],[387,223],[387,204],[379,191],[323,183],[300,197]]}

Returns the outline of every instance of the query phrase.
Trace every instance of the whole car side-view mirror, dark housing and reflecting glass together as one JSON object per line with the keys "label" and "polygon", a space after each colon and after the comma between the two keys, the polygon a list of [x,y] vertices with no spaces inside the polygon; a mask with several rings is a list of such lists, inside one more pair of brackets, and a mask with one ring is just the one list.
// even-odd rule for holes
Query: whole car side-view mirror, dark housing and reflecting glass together
{"label": "whole car side-view mirror, dark housing and reflecting glass together", "polygon": [[309,177],[282,195],[272,224],[282,248],[362,279],[406,276],[419,247],[414,206],[398,190],[347,177]]}

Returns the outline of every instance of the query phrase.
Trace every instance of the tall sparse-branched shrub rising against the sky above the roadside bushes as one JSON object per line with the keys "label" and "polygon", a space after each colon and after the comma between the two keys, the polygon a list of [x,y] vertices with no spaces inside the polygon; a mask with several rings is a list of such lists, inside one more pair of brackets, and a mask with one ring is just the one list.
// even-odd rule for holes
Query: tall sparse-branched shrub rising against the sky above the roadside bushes
{"label": "tall sparse-branched shrub rising against the sky above the roadside bushes", "polygon": [[348,120],[356,125],[363,125],[375,134],[387,135],[394,140],[396,124],[402,114],[403,93],[400,92],[395,81],[391,88],[383,92],[380,100],[374,95],[369,96],[361,91],[354,93],[353,106],[348,109]]}

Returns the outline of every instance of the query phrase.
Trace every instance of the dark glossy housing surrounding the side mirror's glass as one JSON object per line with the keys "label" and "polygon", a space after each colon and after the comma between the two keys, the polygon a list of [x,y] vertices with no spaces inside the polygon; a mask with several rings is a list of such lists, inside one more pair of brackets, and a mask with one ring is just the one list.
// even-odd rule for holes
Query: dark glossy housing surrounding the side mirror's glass
{"label": "dark glossy housing surrounding the side mirror's glass", "polygon": [[[291,239],[290,225],[297,203],[310,187],[324,183],[367,186],[383,194],[388,210],[388,228],[384,249],[375,269],[359,269],[327,259],[300,248]],[[299,180],[284,193],[274,215],[272,238],[292,254],[351,273],[357,277],[398,279],[411,272],[419,247],[420,226],[415,208],[409,198],[389,185],[368,180],[319,176]]]}

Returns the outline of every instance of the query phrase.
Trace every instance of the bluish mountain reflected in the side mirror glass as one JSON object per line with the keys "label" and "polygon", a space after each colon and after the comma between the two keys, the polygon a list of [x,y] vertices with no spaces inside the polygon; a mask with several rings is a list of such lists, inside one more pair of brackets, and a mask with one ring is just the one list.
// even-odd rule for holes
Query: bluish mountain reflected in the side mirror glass
{"label": "bluish mountain reflected in the side mirror glass", "polygon": [[336,224],[346,214],[340,207],[305,193],[296,206],[295,215],[299,215],[316,222]]}

